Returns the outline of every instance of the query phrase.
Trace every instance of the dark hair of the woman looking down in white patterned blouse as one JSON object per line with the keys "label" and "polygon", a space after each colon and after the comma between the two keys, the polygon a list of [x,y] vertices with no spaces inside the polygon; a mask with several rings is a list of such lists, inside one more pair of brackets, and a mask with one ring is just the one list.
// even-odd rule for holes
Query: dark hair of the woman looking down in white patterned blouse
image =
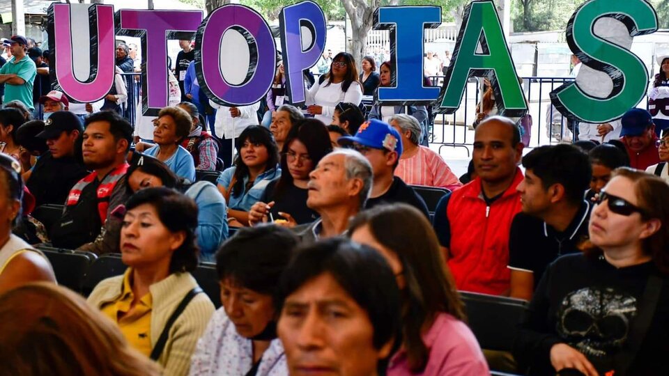
{"label": "dark hair of the woman looking down in white patterned blouse", "polygon": [[243,227],[216,252],[218,279],[271,295],[278,305],[279,279],[298,244],[288,228],[265,224]]}

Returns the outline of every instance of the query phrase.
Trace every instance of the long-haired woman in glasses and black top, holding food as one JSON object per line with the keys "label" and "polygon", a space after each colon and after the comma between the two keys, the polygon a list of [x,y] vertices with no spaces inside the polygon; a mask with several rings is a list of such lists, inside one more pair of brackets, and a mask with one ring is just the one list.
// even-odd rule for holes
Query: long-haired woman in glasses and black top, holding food
{"label": "long-haired woman in glasses and black top, holding food", "polygon": [[331,152],[325,125],[316,119],[302,120],[289,133],[281,153],[281,178],[267,185],[260,201],[249,210],[249,224],[274,219],[282,226],[308,224],[318,218],[307,207],[309,173]]}

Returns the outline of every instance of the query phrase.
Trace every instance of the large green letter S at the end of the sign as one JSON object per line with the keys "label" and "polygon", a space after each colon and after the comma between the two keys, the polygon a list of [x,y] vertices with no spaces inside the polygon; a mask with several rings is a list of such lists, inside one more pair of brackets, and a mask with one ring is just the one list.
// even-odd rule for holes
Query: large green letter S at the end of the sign
{"label": "large green letter S at the end of the sign", "polygon": [[569,48],[583,64],[613,79],[613,91],[605,98],[588,95],[573,82],[551,92],[551,102],[558,111],[586,123],[620,118],[636,107],[648,85],[648,72],[638,56],[594,35],[594,23],[601,17],[619,20],[632,37],[657,30],[657,15],[645,0],[590,0],[571,15],[567,24]]}

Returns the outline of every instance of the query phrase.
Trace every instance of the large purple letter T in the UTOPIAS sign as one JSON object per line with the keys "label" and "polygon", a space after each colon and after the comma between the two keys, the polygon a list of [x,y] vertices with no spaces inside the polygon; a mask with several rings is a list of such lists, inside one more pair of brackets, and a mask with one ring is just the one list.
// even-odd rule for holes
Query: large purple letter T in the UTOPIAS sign
{"label": "large purple letter T in the UTOPIAS sign", "polygon": [[119,35],[141,38],[141,109],[145,115],[157,116],[169,99],[167,40],[192,38],[202,11],[123,9],[116,17],[121,27]]}

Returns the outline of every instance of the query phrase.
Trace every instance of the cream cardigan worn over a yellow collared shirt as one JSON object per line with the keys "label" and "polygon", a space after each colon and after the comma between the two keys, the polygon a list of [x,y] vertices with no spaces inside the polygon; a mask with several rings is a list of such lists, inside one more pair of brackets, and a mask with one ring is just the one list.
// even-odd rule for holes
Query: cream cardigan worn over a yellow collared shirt
{"label": "cream cardigan worn over a yellow collared shirt", "polygon": [[[126,273],[130,272],[130,268]],[[166,279],[154,283],[149,288],[153,299],[151,312],[151,347],[160,337],[169,316],[183,297],[197,286],[190,273],[174,273]],[[123,275],[105,279],[98,283],[89,296],[89,304],[100,309],[103,304],[121,297]],[[190,358],[195,351],[197,340],[202,336],[213,315],[214,305],[206,294],[198,294],[186,306],[169,330],[169,336],[158,363],[164,368],[164,376],[188,375]]]}

